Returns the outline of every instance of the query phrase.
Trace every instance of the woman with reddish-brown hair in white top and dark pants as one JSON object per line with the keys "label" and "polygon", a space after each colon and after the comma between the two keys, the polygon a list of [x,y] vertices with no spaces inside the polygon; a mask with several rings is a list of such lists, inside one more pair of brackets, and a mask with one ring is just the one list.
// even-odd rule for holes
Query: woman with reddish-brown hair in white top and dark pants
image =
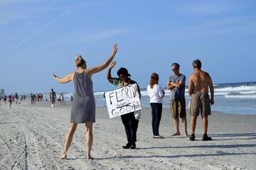
{"label": "woman with reddish-brown hair in white top and dark pants", "polygon": [[161,89],[159,85],[159,74],[152,73],[149,81],[149,85],[147,86],[147,93],[150,98],[150,106],[151,106],[151,115],[152,115],[152,130],[153,137],[156,139],[164,138],[159,135],[159,125],[161,120],[162,113],[162,98],[164,98],[164,91]]}

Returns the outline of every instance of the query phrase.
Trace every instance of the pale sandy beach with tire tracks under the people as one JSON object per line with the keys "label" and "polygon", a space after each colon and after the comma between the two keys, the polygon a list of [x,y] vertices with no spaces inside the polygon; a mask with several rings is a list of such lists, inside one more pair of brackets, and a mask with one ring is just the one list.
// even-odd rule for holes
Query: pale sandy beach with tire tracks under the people
{"label": "pale sandy beach with tire tracks under the people", "polygon": [[[190,133],[190,115],[188,132]],[[137,132],[137,149],[122,149],[126,144],[120,118],[110,119],[107,108],[97,107],[93,127],[92,157],[85,159],[85,124],[78,125],[65,160],[58,159],[70,121],[70,104],[50,108],[43,101],[0,105],[0,169],[255,169],[256,115],[213,112],[208,135],[203,142],[201,118],[196,141],[183,134],[171,137],[174,124],[169,109],[164,109],[159,133],[151,130],[151,109],[143,108]],[[183,133],[183,126],[180,125]]]}

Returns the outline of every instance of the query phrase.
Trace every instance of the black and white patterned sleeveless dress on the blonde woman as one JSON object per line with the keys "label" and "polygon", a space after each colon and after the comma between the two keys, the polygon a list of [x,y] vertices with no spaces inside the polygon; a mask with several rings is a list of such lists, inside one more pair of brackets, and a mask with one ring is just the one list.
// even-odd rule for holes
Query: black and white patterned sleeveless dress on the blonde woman
{"label": "black and white patterned sleeveless dress on the blonde woman", "polygon": [[71,123],[95,123],[95,96],[92,89],[92,79],[87,73],[74,74],[74,100],[71,108]]}

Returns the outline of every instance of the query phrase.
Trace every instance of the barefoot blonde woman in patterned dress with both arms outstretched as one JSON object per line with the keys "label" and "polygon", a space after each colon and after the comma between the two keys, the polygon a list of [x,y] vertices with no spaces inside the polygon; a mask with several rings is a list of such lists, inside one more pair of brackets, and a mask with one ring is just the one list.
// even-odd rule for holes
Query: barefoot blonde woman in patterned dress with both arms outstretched
{"label": "barefoot blonde woman in patterned dress with both arms outstretched", "polygon": [[74,73],[68,74],[63,79],[54,76],[59,83],[68,83],[74,81],[75,92],[74,101],[72,103],[70,125],[68,134],[65,138],[65,144],[60,159],[67,157],[68,147],[70,146],[74,132],[78,123],[85,123],[86,132],[86,158],[92,159],[90,152],[92,149],[92,124],[95,123],[95,96],[92,89],[92,75],[101,72],[112,62],[114,55],[117,53],[117,44],[114,45],[112,54],[107,60],[96,67],[87,68],[85,60],[81,56],[75,58],[75,66],[77,70]]}

